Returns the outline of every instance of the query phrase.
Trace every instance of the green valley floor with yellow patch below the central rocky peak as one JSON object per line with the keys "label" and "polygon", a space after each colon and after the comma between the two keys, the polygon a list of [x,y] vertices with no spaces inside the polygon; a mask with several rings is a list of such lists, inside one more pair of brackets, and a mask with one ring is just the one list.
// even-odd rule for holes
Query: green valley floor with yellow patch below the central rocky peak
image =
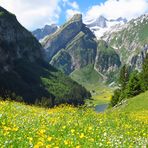
{"label": "green valley floor with yellow patch below the central rocky peak", "polygon": [[91,92],[93,98],[91,103],[94,105],[105,104],[110,101],[113,90],[102,83],[102,78],[94,70],[93,65],[74,71],[71,78]]}

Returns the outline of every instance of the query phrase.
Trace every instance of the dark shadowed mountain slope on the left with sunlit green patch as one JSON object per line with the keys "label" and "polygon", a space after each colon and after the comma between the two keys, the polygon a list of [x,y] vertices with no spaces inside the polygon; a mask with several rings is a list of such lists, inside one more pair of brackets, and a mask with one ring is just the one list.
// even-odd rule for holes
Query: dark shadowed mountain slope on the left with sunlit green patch
{"label": "dark shadowed mountain slope on the left with sunlit green patch", "polygon": [[31,104],[43,100],[48,106],[81,104],[90,97],[83,87],[43,60],[41,45],[13,14],[2,7],[0,14],[0,96],[14,100],[21,96]]}

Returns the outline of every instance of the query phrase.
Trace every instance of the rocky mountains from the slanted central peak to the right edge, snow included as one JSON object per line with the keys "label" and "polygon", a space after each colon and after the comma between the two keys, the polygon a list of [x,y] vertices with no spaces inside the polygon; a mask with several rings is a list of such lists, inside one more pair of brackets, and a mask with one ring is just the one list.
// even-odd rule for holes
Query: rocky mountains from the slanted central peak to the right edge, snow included
{"label": "rocky mountains from the slanted central peak to the right edge, snow included", "polygon": [[141,70],[148,52],[147,28],[147,14],[131,21],[99,16],[85,22],[77,14],[41,44],[47,62],[65,74],[93,65],[103,80],[113,82],[124,64]]}

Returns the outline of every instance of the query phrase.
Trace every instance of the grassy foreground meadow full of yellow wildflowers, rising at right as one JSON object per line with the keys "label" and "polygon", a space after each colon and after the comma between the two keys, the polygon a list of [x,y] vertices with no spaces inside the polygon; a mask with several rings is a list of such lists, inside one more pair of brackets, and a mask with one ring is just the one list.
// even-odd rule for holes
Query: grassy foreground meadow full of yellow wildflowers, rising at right
{"label": "grassy foreground meadow full of yellow wildflowers, rising at right", "polygon": [[0,101],[0,147],[98,148],[148,146],[148,92],[119,108],[43,109]]}

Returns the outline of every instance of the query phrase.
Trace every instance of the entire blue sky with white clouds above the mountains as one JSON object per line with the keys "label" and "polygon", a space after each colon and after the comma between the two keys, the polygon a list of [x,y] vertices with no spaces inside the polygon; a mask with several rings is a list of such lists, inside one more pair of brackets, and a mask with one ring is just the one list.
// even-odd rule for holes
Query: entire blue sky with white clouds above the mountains
{"label": "entire blue sky with white clouds above the mountains", "polygon": [[100,15],[130,20],[148,13],[148,0],[0,0],[0,6],[31,31],[46,24],[62,25],[76,13],[85,21]]}

